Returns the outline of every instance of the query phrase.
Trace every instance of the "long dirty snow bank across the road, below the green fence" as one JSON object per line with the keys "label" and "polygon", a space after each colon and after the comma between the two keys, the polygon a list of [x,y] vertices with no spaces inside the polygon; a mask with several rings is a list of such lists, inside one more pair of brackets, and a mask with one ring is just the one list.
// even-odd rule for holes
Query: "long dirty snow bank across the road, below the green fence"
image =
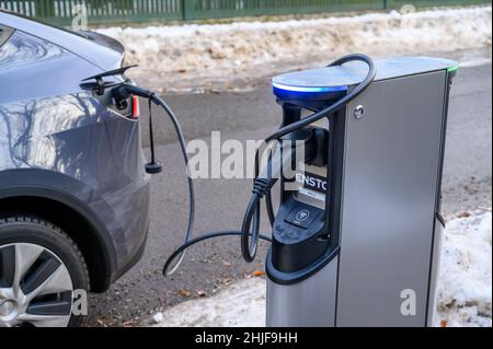
{"label": "long dirty snow bank across the road, below the green fence", "polygon": [[491,59],[491,20],[492,8],[479,7],[99,32],[121,40],[127,62],[140,66],[130,77],[173,91],[207,89],[218,82],[228,89],[231,81],[248,84],[354,51],[379,57],[472,49]]}

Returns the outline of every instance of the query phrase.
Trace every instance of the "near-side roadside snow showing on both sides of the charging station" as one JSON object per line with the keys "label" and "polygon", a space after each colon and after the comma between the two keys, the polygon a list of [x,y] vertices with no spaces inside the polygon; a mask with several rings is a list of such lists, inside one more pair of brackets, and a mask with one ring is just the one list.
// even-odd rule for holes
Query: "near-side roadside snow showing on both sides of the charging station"
{"label": "near-side roadside snow showing on both sides of the charging station", "polygon": [[[492,326],[492,213],[447,223],[442,246],[438,326]],[[236,282],[207,299],[181,303],[153,316],[157,326],[265,326],[265,279]]]}

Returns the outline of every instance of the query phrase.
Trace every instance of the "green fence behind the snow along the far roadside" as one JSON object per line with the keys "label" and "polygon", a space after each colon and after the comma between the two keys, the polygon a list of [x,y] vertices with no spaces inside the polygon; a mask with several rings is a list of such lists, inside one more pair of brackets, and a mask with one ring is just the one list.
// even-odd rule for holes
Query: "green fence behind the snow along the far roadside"
{"label": "green fence behind the snow along the far roadside", "polygon": [[320,13],[491,3],[481,0],[0,0],[0,8],[69,25],[83,4],[89,24],[182,21],[250,15]]}

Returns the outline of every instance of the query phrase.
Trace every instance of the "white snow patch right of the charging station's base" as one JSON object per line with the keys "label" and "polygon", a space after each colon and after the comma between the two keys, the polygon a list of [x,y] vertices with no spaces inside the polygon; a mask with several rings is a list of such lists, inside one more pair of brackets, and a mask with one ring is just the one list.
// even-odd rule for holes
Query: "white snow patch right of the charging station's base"
{"label": "white snow patch right of the charging station's base", "polygon": [[447,223],[438,287],[447,326],[491,326],[491,212]]}

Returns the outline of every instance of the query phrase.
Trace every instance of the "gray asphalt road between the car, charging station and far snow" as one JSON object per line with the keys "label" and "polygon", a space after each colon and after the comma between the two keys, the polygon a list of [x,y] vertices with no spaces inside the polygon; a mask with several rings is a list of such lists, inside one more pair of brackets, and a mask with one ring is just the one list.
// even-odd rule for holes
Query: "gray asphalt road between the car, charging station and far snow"
{"label": "gray asphalt road between the car, charging station and far snow", "polygon": [[[491,207],[491,68],[485,65],[461,69],[455,81],[443,186],[447,216]],[[223,140],[262,139],[279,121],[279,107],[267,81],[262,88],[242,94],[175,95],[168,96],[167,101],[179,115],[188,139],[208,140],[211,130],[220,130]],[[165,257],[182,242],[188,203],[183,160],[172,125],[164,117],[157,117],[156,129],[157,154],[164,171],[152,179],[146,254],[108,292],[93,296],[90,325],[146,325],[163,307],[209,295],[233,280],[263,269],[265,245],[256,260],[248,265],[240,256],[239,239],[228,237],[193,247],[179,272],[163,279],[161,268]],[[246,179],[197,181],[195,235],[239,229],[250,186]]]}

